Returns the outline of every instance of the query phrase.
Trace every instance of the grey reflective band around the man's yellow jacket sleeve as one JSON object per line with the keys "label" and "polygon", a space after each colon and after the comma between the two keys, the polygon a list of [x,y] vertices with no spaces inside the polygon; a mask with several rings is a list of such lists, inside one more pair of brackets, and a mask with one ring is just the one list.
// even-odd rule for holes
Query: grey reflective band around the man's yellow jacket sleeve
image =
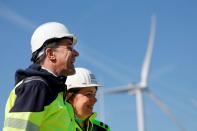
{"label": "grey reflective band around the man's yellow jacket sleeve", "polygon": [[26,131],[39,131],[39,127],[34,123],[17,118],[7,118],[5,120],[4,126],[25,129]]}

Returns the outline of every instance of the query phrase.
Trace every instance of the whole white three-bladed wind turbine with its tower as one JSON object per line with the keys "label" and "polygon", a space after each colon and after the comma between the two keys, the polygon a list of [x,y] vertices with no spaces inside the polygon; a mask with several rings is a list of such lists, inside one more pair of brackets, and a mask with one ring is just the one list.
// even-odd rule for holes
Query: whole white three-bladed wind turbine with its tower
{"label": "whole white three-bladed wind turbine with its tower", "polygon": [[115,89],[108,89],[105,91],[106,94],[114,94],[114,93],[125,93],[128,92],[129,94],[135,94],[136,96],[136,111],[137,111],[137,127],[138,131],[145,131],[144,126],[144,102],[143,102],[143,93],[146,93],[161,109],[166,113],[169,118],[175,123],[175,125],[181,130],[185,131],[185,128],[178,122],[175,115],[172,111],[154,95],[148,88],[148,75],[149,69],[151,64],[152,52],[153,52],[153,45],[154,45],[154,38],[156,32],[156,16],[151,17],[151,28],[150,28],[150,35],[148,40],[147,51],[144,58],[144,63],[141,69],[141,79],[140,82],[135,85],[128,85],[124,87],[119,87]]}

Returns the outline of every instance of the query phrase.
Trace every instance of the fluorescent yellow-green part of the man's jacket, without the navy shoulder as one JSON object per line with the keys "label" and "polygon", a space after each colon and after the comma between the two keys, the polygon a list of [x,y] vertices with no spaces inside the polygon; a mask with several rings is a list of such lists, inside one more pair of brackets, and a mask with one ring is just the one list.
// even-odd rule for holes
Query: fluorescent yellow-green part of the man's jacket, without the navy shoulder
{"label": "fluorescent yellow-green part of the man's jacket, without the navy shoulder", "polygon": [[68,102],[63,100],[63,92],[59,92],[57,97],[42,111],[11,112],[16,104],[15,89],[22,83],[23,81],[15,86],[8,98],[3,131],[75,131],[73,109]]}

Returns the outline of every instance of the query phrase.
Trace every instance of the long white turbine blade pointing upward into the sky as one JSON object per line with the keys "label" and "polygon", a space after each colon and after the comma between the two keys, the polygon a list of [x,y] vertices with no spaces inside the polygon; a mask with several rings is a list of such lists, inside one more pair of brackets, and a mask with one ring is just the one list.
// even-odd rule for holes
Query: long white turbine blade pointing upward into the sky
{"label": "long white turbine blade pointing upward into the sky", "polygon": [[149,35],[149,40],[148,40],[147,51],[146,51],[146,55],[145,55],[145,58],[144,58],[144,63],[142,65],[142,71],[141,71],[140,85],[142,87],[147,86],[147,79],[148,79],[148,73],[149,73],[151,58],[152,58],[155,32],[156,32],[156,16],[153,15],[152,18],[151,18],[151,28],[150,28],[150,35]]}

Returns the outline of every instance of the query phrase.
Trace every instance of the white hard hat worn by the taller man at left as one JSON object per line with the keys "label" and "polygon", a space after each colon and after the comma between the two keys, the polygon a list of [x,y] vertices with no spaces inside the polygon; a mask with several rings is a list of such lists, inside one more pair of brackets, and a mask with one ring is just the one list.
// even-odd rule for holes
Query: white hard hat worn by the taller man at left
{"label": "white hard hat worn by the taller man at left", "polygon": [[42,47],[49,39],[69,37],[73,39],[73,44],[77,42],[76,37],[71,34],[67,27],[58,22],[48,22],[40,25],[31,37],[32,53]]}

